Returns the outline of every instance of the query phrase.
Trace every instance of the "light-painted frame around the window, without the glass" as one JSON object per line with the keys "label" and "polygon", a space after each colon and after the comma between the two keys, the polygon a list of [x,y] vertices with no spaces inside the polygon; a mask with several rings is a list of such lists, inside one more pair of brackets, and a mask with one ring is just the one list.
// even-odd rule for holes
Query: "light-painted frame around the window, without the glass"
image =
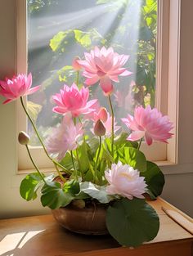
{"label": "light-painted frame around the window, without the glass", "polygon": [[[16,71],[26,73],[26,1],[17,0],[17,47]],[[156,106],[173,121],[174,136],[168,144],[154,142],[152,146],[142,143],[141,150],[146,158],[159,165],[177,164],[177,119],[178,119],[178,75],[179,75],[179,36],[180,36],[180,0],[158,0],[158,35],[157,35],[157,79]],[[171,29],[171,27],[173,29]],[[170,29],[169,29],[170,28]],[[173,99],[171,101],[171,99]],[[27,118],[17,102],[17,131],[26,130]],[[47,159],[43,149],[30,147],[39,168],[51,171],[52,162]],[[18,146],[18,173],[29,173],[34,169],[24,146]]]}

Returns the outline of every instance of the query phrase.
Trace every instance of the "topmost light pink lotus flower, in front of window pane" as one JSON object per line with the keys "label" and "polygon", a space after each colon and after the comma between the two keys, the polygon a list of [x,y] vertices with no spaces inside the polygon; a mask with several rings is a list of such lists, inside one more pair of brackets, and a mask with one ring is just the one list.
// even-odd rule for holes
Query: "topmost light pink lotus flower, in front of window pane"
{"label": "topmost light pink lotus flower, in front of window pane", "polygon": [[127,76],[132,74],[122,66],[128,61],[127,55],[119,55],[114,52],[113,48],[101,50],[95,47],[90,53],[85,52],[85,61],[78,61],[79,65],[84,68],[83,76],[86,77],[85,83],[92,85],[100,81],[101,88],[105,95],[113,92],[113,84],[111,81],[119,82],[118,76]]}

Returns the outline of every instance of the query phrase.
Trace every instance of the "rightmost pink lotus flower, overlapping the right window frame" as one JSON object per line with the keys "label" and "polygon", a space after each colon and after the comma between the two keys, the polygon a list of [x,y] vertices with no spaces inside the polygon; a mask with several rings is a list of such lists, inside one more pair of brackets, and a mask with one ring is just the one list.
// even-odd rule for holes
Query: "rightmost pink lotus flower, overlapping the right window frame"
{"label": "rightmost pink lotus flower, overlapping the right window frame", "polygon": [[169,121],[168,116],[162,115],[156,108],[152,109],[147,106],[144,109],[139,106],[134,111],[134,117],[128,115],[127,119],[122,119],[123,123],[132,130],[128,141],[137,141],[145,137],[146,143],[150,145],[153,140],[167,142],[173,133],[169,131],[173,124]]}

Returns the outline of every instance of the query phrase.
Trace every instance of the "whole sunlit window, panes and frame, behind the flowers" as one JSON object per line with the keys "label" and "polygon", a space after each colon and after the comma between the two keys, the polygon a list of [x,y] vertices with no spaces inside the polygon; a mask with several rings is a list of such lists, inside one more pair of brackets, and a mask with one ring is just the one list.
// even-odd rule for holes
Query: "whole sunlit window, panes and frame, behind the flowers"
{"label": "whole sunlit window, panes and frame, behind the flowers", "polygon": [[[24,52],[25,4],[25,1],[18,1],[18,11],[22,11],[18,20],[18,38],[22,35],[18,48],[18,70],[27,69],[27,51]],[[28,68],[34,75],[34,85],[41,83],[43,90],[29,97],[26,104],[29,110],[34,111],[32,114],[43,137],[47,136],[47,127],[58,122],[56,116],[52,115],[51,95],[58,92],[63,83],[72,83],[75,74],[69,65],[74,55],[83,56],[83,52],[88,52],[93,45],[113,46],[116,52],[130,55],[128,70],[132,70],[134,75],[121,81],[124,93],[132,98],[132,106],[127,105],[127,110],[132,112],[134,106],[150,104],[156,105],[164,114],[169,112],[168,1],[29,0],[27,7]],[[115,91],[119,92],[118,89],[119,84]],[[103,103],[102,98],[100,100]],[[119,110],[119,107],[116,109]],[[24,129],[27,126],[25,115],[19,115],[19,126]],[[53,119],[50,119],[50,116],[53,116]],[[38,146],[29,124],[28,132],[33,137],[31,150],[39,161],[38,165],[40,168],[52,168],[43,150]],[[154,143],[148,148],[145,145],[142,147],[148,159],[168,159],[168,148],[163,143]],[[175,162],[175,157],[175,154],[170,155],[170,160]],[[20,147],[19,169],[32,168],[26,159],[28,158],[25,151]]]}

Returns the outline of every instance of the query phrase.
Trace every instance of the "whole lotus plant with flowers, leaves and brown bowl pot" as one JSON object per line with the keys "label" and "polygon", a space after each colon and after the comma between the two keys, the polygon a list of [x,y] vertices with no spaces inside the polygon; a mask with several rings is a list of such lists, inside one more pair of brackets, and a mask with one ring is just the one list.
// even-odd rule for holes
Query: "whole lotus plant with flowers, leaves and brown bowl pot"
{"label": "whole lotus plant with flowers, leaves and brown bowl pot", "polygon": [[[123,68],[126,61],[128,56],[119,55],[112,47],[94,47],[84,60],[74,59],[74,70],[82,72],[86,87],[79,86],[78,75],[76,83],[64,85],[52,97],[53,111],[62,115],[62,121],[45,143],[23,101],[39,88],[31,88],[32,75],[18,74],[1,81],[0,95],[6,98],[4,104],[20,97],[45,154],[56,167],[54,174],[41,173],[30,154],[28,134],[20,132],[20,144],[25,145],[36,169],[21,182],[20,195],[34,200],[41,190],[43,207],[52,209],[65,228],[84,234],[109,232],[120,245],[135,247],[153,240],[159,231],[159,217],[145,195],[155,200],[164,186],[163,173],[146,160],[141,141],[144,138],[148,145],[167,142],[173,124],[156,108],[137,106],[133,115],[122,119],[129,134],[121,132],[111,95],[113,82],[131,74]],[[110,113],[97,99],[89,100],[88,87],[98,83],[109,101]],[[87,129],[88,124],[92,128]]]}

